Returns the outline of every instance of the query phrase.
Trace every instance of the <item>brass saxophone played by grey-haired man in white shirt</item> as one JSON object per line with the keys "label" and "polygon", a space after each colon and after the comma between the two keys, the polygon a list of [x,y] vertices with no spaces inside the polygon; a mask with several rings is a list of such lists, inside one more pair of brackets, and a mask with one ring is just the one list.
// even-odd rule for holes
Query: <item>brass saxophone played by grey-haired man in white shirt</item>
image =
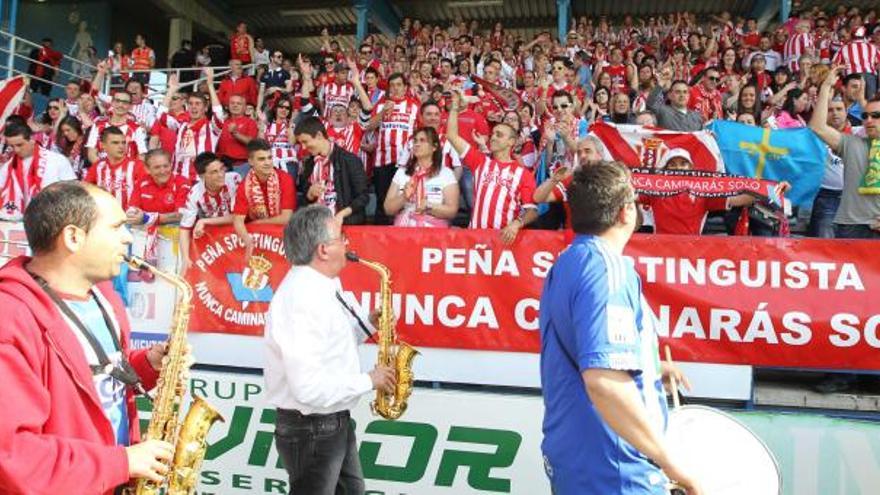
{"label": "brass saxophone played by grey-haired man in white shirt", "polygon": [[370,409],[373,414],[379,414],[385,419],[397,419],[406,411],[407,400],[412,394],[412,360],[419,351],[397,340],[397,333],[394,330],[394,311],[391,307],[391,270],[375,261],[360,259],[352,252],[345,253],[345,257],[379,272],[382,303],[378,325],[379,357],[376,363],[397,371],[397,387],[393,396],[382,390],[376,390],[376,400],[370,404]]}

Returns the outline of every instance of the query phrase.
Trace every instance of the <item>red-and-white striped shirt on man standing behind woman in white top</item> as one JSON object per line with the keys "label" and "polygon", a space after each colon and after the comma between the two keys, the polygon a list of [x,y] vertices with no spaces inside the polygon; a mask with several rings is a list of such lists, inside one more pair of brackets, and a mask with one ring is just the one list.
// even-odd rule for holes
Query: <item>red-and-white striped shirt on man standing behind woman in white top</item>
{"label": "red-and-white striped shirt on man standing behind woman in white top", "polygon": [[379,124],[379,139],[376,143],[376,167],[383,165],[403,165],[409,154],[406,143],[416,129],[421,102],[417,98],[405,96],[400,99],[383,98],[373,108],[373,115],[381,113],[386,101],[394,102],[389,115]]}

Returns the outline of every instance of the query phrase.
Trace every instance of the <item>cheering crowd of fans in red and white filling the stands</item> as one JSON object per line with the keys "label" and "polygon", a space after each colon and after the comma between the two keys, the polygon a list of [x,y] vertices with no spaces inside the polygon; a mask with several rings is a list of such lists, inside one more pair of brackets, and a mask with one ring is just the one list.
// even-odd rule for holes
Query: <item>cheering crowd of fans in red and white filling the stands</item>
{"label": "cheering crowd of fans in red and white filling the stands", "polygon": [[[580,18],[564,42],[407,18],[394,39],[321,40],[319,56],[294,56],[242,23],[228,53],[184,42],[170,65],[205,68],[172,75],[158,105],[148,72],[127,72],[154,68],[153,51],[141,36],[129,53],[117,44],[94,80],[7,121],[0,216],[20,218],[41,181],[75,176],[114,193],[133,225],[179,223],[184,255],[207,225],[244,234],[315,202],[346,224],[497,229],[512,242],[526,226],[565,228],[573,170],[605,156],[593,122],[698,131],[727,119],[814,129],[829,153],[810,235],[880,235],[880,184],[865,184],[880,180],[876,10],[814,8],[763,31],[726,12]],[[51,41],[43,48],[32,57],[52,59]],[[221,57],[230,69],[215,78]],[[119,89],[101,92],[107,78]],[[48,170],[59,155],[69,172]],[[672,149],[660,166],[694,163]],[[754,199],[642,202],[655,232],[700,234],[708,213]]]}

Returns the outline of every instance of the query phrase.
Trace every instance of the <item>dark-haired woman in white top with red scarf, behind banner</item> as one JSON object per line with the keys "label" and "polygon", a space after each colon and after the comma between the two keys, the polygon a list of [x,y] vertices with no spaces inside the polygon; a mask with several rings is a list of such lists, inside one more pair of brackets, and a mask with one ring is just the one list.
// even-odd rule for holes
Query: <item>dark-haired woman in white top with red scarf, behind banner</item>
{"label": "dark-haired woman in white top with red scarf, behind banner", "polygon": [[[421,127],[412,137],[412,155],[397,169],[385,196],[385,213],[396,215],[398,227],[448,227],[458,212],[458,182],[443,166],[440,137]],[[395,187],[396,186],[396,187]]]}

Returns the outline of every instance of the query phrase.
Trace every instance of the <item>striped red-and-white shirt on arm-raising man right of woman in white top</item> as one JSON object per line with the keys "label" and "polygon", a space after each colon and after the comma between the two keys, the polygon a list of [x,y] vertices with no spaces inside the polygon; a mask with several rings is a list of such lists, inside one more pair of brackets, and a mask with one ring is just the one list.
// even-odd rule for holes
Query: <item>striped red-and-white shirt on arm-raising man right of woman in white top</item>
{"label": "striped red-and-white shirt on arm-raising man right of woman in white top", "polygon": [[517,161],[500,162],[470,146],[462,163],[474,172],[472,229],[503,229],[521,210],[535,208],[535,177]]}

